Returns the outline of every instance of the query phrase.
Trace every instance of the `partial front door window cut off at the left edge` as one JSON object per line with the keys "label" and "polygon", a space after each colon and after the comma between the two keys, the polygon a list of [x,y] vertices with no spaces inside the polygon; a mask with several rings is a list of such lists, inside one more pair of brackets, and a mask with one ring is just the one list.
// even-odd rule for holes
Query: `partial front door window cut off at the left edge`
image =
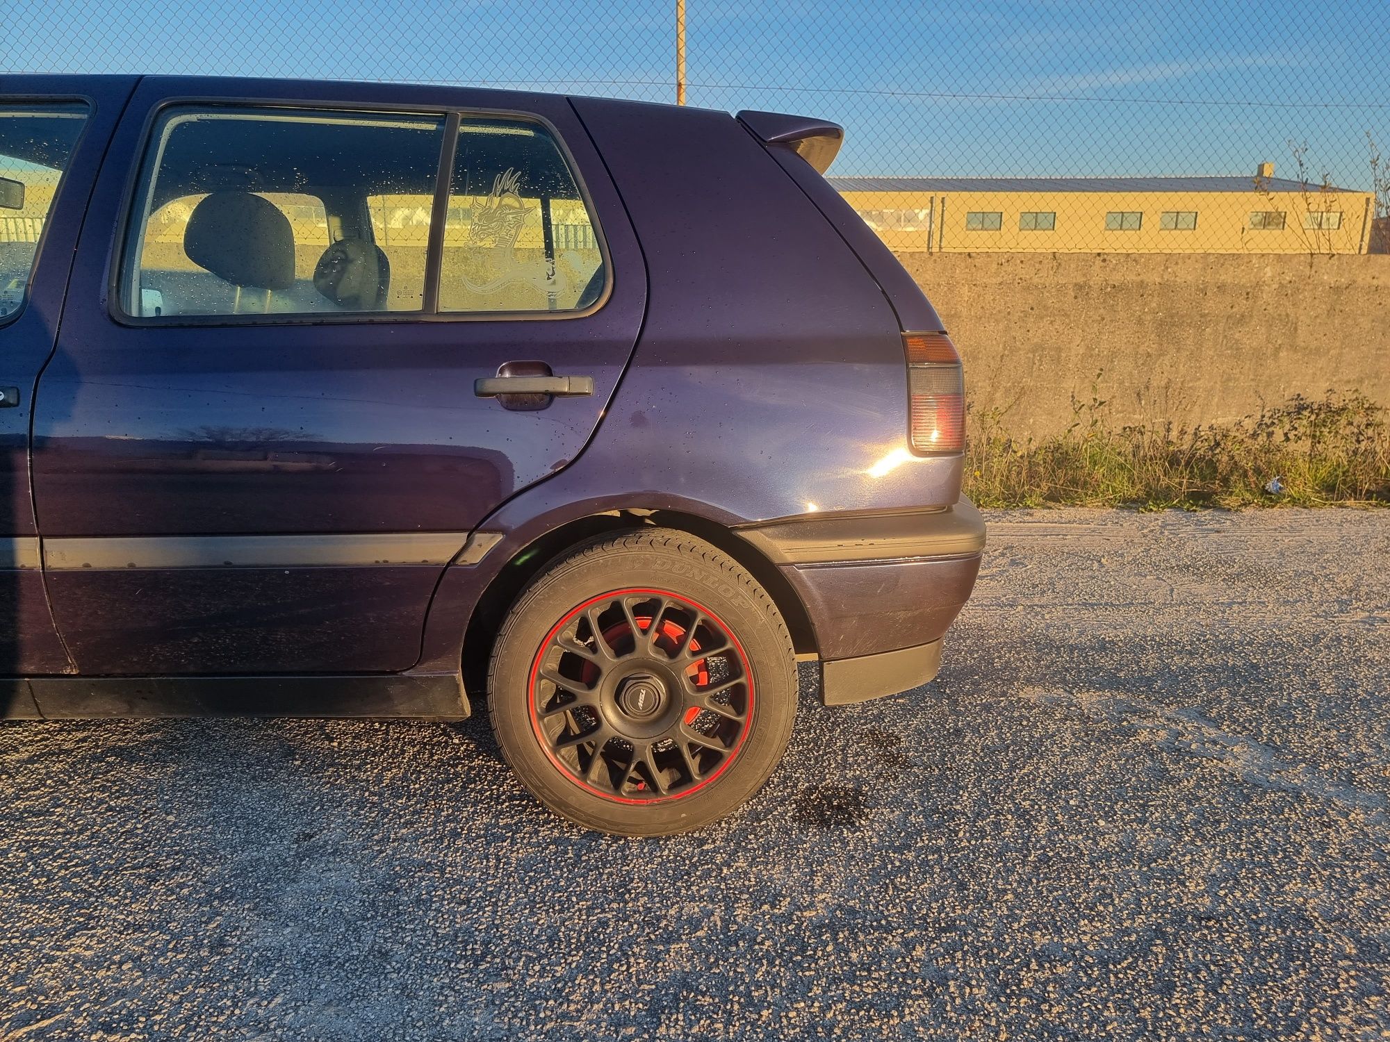
{"label": "partial front door window cut off at the left edge", "polygon": [[86,106],[0,106],[0,322],[19,313]]}

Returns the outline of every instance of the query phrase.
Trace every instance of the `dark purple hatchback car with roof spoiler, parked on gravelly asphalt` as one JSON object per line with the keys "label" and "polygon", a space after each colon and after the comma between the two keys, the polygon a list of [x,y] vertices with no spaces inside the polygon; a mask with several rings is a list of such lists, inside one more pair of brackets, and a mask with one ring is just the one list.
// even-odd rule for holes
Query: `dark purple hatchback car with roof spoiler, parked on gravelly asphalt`
{"label": "dark purple hatchback car with roof spoiler, parked on gravelly asphalt", "polygon": [[696,828],[974,584],[960,360],[834,124],[3,76],[0,706],[468,716]]}

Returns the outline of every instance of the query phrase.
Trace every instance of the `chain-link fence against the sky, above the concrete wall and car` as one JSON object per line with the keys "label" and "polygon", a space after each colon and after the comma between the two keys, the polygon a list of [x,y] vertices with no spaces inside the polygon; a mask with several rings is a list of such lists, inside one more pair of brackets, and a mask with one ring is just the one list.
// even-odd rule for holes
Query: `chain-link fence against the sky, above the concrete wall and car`
{"label": "chain-link fence against the sky, above the concrete wall and car", "polygon": [[844,124],[831,176],[898,250],[1390,249],[1384,0],[10,0],[4,10],[6,71],[414,81],[653,101],[676,100],[682,22],[688,104]]}

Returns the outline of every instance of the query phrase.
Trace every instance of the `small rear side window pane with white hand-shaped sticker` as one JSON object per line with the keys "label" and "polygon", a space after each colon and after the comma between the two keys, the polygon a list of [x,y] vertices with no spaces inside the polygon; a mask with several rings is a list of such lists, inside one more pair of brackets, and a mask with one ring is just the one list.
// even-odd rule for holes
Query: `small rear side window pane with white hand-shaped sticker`
{"label": "small rear side window pane with white hand-shaped sticker", "polygon": [[449,188],[441,311],[581,311],[603,295],[594,217],[555,139],[464,117]]}

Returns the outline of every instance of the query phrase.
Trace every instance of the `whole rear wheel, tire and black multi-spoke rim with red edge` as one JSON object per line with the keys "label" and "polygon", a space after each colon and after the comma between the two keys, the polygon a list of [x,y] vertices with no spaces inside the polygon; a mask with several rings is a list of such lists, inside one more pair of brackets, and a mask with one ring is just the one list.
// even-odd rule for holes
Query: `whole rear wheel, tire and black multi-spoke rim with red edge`
{"label": "whole rear wheel, tire and black multi-spoke rim with red edge", "polygon": [[684,532],[609,534],[512,607],[488,671],[502,753],[556,814],[669,835],[731,813],[781,761],[791,638],[735,561]]}

